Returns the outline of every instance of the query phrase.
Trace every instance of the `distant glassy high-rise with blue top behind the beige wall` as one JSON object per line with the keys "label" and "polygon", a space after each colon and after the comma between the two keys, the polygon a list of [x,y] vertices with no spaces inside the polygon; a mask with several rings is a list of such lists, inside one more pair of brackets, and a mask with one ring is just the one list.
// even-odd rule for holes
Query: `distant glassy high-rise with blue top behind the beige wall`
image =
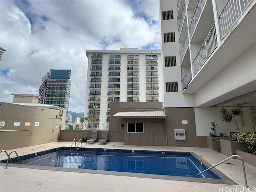
{"label": "distant glassy high-rise with blue top behind the beige wall", "polygon": [[71,70],[51,69],[42,78],[38,103],[59,106],[68,110],[70,100]]}

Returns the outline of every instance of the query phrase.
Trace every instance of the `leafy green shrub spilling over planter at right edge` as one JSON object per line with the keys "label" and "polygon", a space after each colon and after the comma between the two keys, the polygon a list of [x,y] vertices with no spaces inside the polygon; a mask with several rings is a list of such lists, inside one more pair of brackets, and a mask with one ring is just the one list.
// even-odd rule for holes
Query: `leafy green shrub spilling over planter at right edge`
{"label": "leafy green shrub spilling over planter at right edge", "polygon": [[233,138],[245,144],[245,146],[248,147],[249,153],[256,155],[256,132],[250,132],[249,134],[246,132],[236,133],[233,134]]}

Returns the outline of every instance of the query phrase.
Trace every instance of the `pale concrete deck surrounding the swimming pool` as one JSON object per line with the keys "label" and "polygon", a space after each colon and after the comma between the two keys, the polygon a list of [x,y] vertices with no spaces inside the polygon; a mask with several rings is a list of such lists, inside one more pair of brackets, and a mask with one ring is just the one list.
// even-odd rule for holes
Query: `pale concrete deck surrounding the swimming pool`
{"label": "pale concrete deck surrounding the swimming pool", "polygon": [[[40,152],[61,146],[70,147],[72,142],[52,142],[37,146],[14,149],[19,156]],[[121,142],[104,144],[86,144],[88,148],[112,148],[130,150],[160,150],[194,152],[211,165],[227,158],[227,156],[209,148],[196,147],[156,147],[156,146],[125,146]],[[8,154],[13,150],[7,150]],[[11,157],[15,157],[12,153]],[[6,159],[6,154],[0,154],[0,160]],[[244,187],[244,174],[242,163],[238,159],[230,159],[216,169],[233,180],[236,184],[212,184],[180,180],[166,180],[143,178],[135,176],[120,176],[108,174],[95,174],[84,172],[70,172],[58,170],[46,170],[26,168],[24,165],[5,163],[0,166],[0,190],[1,192],[82,192],[82,191],[111,191],[111,192],[256,192],[256,167],[245,163],[247,183],[250,187]]]}

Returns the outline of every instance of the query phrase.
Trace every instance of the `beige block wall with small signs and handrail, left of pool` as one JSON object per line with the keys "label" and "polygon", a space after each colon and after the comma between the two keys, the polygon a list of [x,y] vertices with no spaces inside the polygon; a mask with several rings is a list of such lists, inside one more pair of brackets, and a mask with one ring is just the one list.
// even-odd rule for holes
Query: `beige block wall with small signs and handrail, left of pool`
{"label": "beige block wall with small signs and handrail, left of pool", "polygon": [[[4,102],[0,104],[1,150],[34,146],[58,140],[64,116],[56,118],[57,115],[60,116],[60,110]],[[20,126],[14,126],[14,122],[20,122]],[[30,126],[25,126],[25,124],[29,124],[28,122],[30,122]],[[35,126],[35,122],[39,125]]]}

